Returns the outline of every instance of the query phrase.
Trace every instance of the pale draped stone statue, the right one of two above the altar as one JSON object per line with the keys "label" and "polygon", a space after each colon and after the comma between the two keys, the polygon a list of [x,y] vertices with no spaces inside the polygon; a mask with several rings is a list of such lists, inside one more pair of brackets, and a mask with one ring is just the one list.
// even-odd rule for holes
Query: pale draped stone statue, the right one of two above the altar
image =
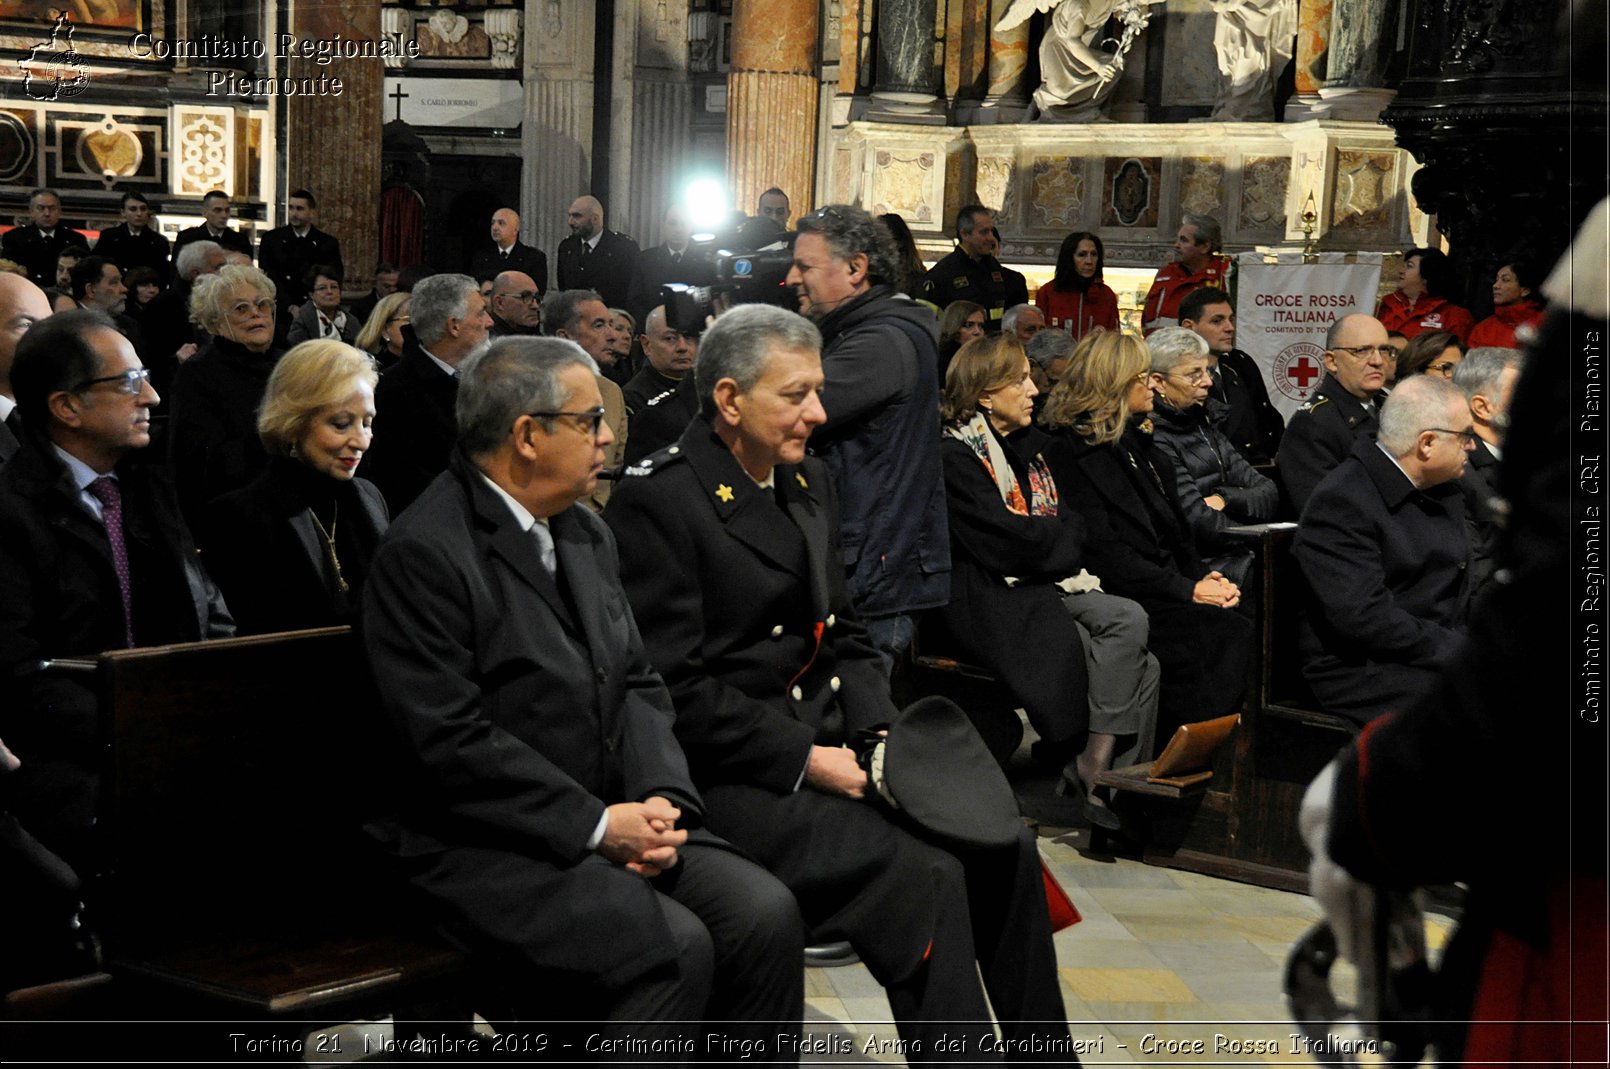
{"label": "pale draped stone statue, the right one of two above the altar", "polygon": [[1212,0],[1212,47],[1224,76],[1212,118],[1274,121],[1275,79],[1296,45],[1298,0]]}

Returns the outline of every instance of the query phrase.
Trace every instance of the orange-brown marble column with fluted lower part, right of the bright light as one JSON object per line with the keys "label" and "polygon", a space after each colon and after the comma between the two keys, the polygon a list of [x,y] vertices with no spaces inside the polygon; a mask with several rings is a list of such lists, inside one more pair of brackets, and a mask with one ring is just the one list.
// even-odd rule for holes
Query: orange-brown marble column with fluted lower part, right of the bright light
{"label": "orange-brown marble column with fluted lower part, right of the bright light", "polygon": [[726,177],[734,206],[753,213],[776,185],[794,216],[815,206],[816,0],[733,5],[733,71],[726,87]]}

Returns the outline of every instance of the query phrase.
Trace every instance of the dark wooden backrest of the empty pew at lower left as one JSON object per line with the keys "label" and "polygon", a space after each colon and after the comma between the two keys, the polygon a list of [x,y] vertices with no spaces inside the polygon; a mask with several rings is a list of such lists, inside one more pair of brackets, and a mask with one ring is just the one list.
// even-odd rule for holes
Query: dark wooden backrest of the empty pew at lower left
{"label": "dark wooden backrest of the empty pew at lower left", "polygon": [[359,831],[374,710],[348,628],[116,650],[97,663],[106,770],[95,897],[108,931],[367,908]]}

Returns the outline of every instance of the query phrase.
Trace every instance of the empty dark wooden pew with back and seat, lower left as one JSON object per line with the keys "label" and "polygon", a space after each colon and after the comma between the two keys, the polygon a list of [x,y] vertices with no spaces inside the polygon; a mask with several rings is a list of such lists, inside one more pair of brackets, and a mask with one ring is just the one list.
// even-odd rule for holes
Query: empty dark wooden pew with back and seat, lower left
{"label": "empty dark wooden pew with back and seat, lower left", "polygon": [[119,1003],[290,1035],[402,1014],[460,979],[464,956],[411,916],[361,832],[383,755],[349,629],[116,650],[92,679],[106,763],[90,908]]}

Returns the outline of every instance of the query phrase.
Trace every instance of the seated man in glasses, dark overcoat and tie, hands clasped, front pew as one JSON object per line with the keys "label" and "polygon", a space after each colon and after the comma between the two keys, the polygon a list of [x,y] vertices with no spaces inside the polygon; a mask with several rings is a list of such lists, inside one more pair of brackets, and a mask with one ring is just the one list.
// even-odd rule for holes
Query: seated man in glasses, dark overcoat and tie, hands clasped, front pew
{"label": "seated man in glasses, dark overcoat and tie, hands clasped, front pew", "polygon": [[506,989],[517,1016],[609,1021],[610,1040],[708,1017],[774,1040],[802,1014],[799,911],[687,831],[704,802],[671,699],[615,539],[576,504],[604,465],[602,414],[570,341],[501,338],[462,365],[452,460],[364,588],[369,663],[411,758],[375,834],[449,935],[547,982]]}

